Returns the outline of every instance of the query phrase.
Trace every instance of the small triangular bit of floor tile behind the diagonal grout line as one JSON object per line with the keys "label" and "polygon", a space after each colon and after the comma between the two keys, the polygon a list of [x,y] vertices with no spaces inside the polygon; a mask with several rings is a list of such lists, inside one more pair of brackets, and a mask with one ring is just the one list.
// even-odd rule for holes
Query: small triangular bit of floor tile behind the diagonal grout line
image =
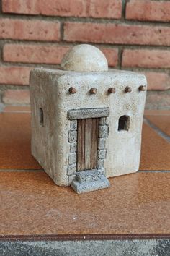
{"label": "small triangular bit of floor tile behind the diagonal grout line", "polygon": [[169,116],[145,116],[147,120],[151,121],[158,129],[161,129],[166,135],[170,136],[170,115]]}

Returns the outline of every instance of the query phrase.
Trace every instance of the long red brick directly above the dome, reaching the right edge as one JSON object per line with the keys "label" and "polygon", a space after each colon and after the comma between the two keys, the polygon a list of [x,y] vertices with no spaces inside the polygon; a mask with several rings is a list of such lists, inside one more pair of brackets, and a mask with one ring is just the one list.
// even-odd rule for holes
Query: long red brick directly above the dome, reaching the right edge
{"label": "long red brick directly above the dome, reaching the right edge", "polygon": [[170,27],[66,22],[64,39],[70,42],[170,46]]}

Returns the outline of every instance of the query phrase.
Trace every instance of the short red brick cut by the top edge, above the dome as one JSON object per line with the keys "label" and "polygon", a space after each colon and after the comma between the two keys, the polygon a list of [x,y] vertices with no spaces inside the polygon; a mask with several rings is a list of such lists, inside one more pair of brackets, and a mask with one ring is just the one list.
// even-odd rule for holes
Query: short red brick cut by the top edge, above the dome
{"label": "short red brick cut by the top edge, above the dome", "polygon": [[[87,1],[88,2],[88,1]],[[122,16],[121,0],[90,0],[89,17],[120,19]]]}

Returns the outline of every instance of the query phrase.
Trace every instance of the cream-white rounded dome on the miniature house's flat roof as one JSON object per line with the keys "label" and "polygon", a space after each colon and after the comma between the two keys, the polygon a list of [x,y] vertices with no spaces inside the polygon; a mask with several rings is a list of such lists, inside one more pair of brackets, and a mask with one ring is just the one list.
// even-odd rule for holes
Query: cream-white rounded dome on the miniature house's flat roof
{"label": "cream-white rounded dome on the miniature house's flat roof", "polygon": [[107,59],[95,46],[80,44],[68,51],[61,61],[64,70],[72,71],[107,71]]}

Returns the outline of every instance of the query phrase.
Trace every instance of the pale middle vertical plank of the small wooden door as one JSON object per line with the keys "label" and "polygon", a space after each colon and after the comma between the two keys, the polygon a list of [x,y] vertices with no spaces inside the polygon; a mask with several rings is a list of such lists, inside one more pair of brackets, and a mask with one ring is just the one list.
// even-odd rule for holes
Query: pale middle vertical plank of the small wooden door
{"label": "pale middle vertical plank of the small wooden door", "polygon": [[91,169],[92,119],[85,119],[85,169]]}

